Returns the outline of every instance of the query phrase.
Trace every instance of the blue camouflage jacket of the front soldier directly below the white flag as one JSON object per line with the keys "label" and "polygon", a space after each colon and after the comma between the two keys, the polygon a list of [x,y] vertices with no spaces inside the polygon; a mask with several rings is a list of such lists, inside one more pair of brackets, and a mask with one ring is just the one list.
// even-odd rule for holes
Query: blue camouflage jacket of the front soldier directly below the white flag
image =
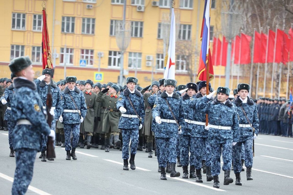
{"label": "blue camouflage jacket of the front soldier directly below the white flag", "polygon": [[[169,119],[174,120],[171,111],[165,101],[168,101],[173,114],[178,121],[179,125],[182,127],[182,131],[184,131],[184,111],[183,111],[183,102],[180,96],[173,92],[172,97],[168,97],[166,91],[164,91],[159,97],[158,101],[155,101],[153,106],[153,118],[155,120],[156,116],[160,116],[161,119]],[[158,107],[158,108],[157,108]],[[178,125],[176,123],[165,123],[157,124],[157,129],[155,132],[155,137],[157,138],[173,138],[178,137]]]}

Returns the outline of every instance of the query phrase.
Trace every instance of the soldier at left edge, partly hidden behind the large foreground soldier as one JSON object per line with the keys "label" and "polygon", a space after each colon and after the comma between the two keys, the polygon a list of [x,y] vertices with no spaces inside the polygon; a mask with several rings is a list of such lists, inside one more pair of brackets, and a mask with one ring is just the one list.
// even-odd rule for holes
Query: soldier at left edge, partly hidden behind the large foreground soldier
{"label": "soldier at left edge, partly hidden behind the large foreground soldier", "polygon": [[[16,77],[16,75],[11,73],[11,79],[13,79],[14,77]],[[8,82],[6,81],[6,83],[9,83],[10,81],[12,82],[11,79],[8,79]],[[7,121],[7,128],[8,128],[8,142],[9,142],[9,148],[10,148],[9,157],[14,157],[12,131],[13,131],[13,128],[16,126],[16,123],[12,121],[12,117],[11,117],[11,102],[13,99],[14,91],[15,91],[15,88],[12,83],[10,86],[8,86],[5,89],[4,95],[0,99],[3,105],[7,104],[7,109],[4,114],[4,120]]]}

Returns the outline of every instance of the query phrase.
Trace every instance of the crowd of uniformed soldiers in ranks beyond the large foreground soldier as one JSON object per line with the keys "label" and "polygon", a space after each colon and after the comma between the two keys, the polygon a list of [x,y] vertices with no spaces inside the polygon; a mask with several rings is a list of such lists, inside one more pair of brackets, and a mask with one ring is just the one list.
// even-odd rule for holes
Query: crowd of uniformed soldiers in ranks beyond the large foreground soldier
{"label": "crowd of uniformed soldiers in ranks beyond the large foreground soldier", "polygon": [[[15,120],[12,116],[16,109],[12,105],[16,91],[13,80],[23,78],[26,74],[19,76],[20,72],[30,65],[28,57],[16,58],[9,65],[11,79],[0,79],[0,128],[8,130],[10,157],[15,156],[14,149],[19,149],[13,138],[17,127],[33,125],[30,119]],[[20,72],[14,71],[14,66]],[[202,183],[203,169],[207,181],[214,180],[213,186],[219,188],[221,155],[224,185],[233,182],[231,167],[236,176],[235,184],[242,185],[240,172],[244,170],[244,162],[247,180],[253,180],[251,148],[258,133],[292,137],[288,101],[260,98],[255,104],[248,97],[250,86],[245,83],[238,84],[233,91],[235,99],[230,101],[229,88],[219,87],[214,91],[205,81],[177,85],[174,79],[160,79],[142,88],[135,77],[127,77],[124,87],[112,82],[94,84],[90,79],[77,80],[74,76],[54,82],[52,77],[52,69],[44,69],[34,80],[35,89],[31,88],[41,100],[41,106],[35,104],[34,110],[46,111],[50,85],[50,113],[54,116],[50,136],[56,132],[54,145],[65,147],[66,160],[77,160],[77,147],[100,147],[105,152],[114,148],[122,151],[123,170],[128,170],[129,157],[130,168],[134,170],[137,150],[146,149],[148,157],[153,157],[153,151],[157,156],[160,179],[166,180],[166,173],[179,177],[177,163],[177,167],[183,167],[182,178],[195,178]],[[54,160],[46,158],[48,132],[43,130],[40,134],[41,145],[37,150],[41,151],[41,161]]]}

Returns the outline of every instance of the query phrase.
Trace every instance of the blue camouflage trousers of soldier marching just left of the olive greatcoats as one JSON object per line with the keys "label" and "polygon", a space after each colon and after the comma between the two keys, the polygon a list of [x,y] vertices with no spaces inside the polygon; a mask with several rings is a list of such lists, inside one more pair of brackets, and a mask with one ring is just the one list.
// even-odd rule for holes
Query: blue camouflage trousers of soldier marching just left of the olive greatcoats
{"label": "blue camouflage trousers of soldier marching just left of the olive greatcoats", "polygon": [[[75,124],[64,124],[64,135],[65,135],[65,150],[70,151],[71,147],[76,148],[77,143],[79,140],[79,126],[80,123],[75,123]],[[70,143],[70,133],[72,132],[73,139],[72,143]]]}

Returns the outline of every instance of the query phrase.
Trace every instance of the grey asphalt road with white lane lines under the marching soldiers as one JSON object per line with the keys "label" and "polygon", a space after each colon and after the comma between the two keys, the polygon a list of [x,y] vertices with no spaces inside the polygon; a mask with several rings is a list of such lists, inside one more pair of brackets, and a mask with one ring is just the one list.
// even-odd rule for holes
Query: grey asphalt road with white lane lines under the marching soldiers
{"label": "grey asphalt road with white lane lines under the marching soldiers", "polygon": [[[9,157],[8,132],[0,131],[0,195],[11,194],[15,158]],[[136,170],[124,171],[121,151],[111,149],[76,150],[78,160],[65,160],[64,148],[56,147],[55,161],[41,162],[37,153],[34,174],[27,194],[292,194],[293,139],[259,135],[255,140],[253,181],[246,181],[241,173],[242,186],[224,186],[224,173],[219,175],[220,188],[213,182],[196,183],[181,176],[160,180],[156,157],[148,158],[145,151],[137,151]]]}

